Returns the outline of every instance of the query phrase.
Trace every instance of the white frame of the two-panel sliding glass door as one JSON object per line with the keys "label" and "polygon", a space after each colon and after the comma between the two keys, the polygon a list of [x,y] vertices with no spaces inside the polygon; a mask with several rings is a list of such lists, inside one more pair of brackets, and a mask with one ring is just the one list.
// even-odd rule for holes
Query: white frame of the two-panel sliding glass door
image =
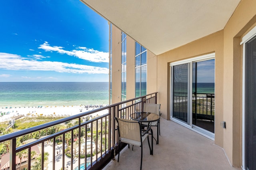
{"label": "white frame of the two-panel sliding glass door", "polygon": [[[205,60],[210,60],[210,59],[215,59],[215,53],[209,53],[209,54],[206,54],[206,55],[200,55],[198,57],[193,57],[193,58],[189,58],[189,59],[184,59],[184,60],[181,60],[181,61],[175,61],[175,62],[172,62],[170,63],[170,120],[184,126],[184,127],[187,127],[199,134],[202,134],[203,136],[206,136],[207,138],[210,138],[212,140],[214,140],[215,138],[215,134],[212,133],[212,132],[209,132],[208,130],[205,130],[203,128],[200,128],[200,127],[197,127],[197,126],[194,126],[192,124],[192,63],[194,62],[199,62],[199,61],[205,61]],[[173,93],[173,89],[172,89],[172,82],[173,82],[173,76],[172,76],[172,66],[175,66],[175,65],[180,65],[180,64],[185,64],[185,63],[189,63],[189,98],[188,98],[188,105],[189,105],[189,124],[186,124],[174,117],[172,117],[172,93]],[[214,71],[215,71],[215,68],[214,68]],[[215,72],[214,72],[214,81],[215,81]],[[215,83],[215,82],[214,82]],[[215,85],[214,85],[215,86]],[[215,89],[215,87],[214,87]],[[215,92],[214,92],[215,93]],[[214,106],[215,107],[215,106]],[[215,115],[214,115],[214,120],[215,120]],[[214,128],[215,128],[215,121],[214,121]]]}

